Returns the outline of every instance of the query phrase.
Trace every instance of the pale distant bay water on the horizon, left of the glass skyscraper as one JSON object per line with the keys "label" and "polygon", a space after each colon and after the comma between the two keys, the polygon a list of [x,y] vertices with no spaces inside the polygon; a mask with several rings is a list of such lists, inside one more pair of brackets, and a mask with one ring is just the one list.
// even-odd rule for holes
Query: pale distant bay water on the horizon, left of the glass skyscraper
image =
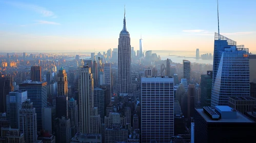
{"label": "pale distant bay water on the horizon, left of the glass skyscraper", "polygon": [[[157,56],[160,55],[162,60],[171,59],[172,62],[175,63],[183,63],[183,60],[188,60],[191,63],[204,63],[204,64],[213,64],[213,60],[203,60],[203,59],[195,59],[195,51],[152,51],[152,53],[156,53]],[[200,56],[206,53],[200,53]],[[213,53],[211,53],[213,56]],[[170,56],[169,56],[170,55]],[[181,57],[178,57],[181,56]]]}

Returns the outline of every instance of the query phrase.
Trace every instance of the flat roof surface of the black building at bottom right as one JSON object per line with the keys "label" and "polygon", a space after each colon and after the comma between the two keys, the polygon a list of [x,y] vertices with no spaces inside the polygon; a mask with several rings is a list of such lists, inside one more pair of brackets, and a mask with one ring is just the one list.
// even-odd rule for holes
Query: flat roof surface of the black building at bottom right
{"label": "flat roof surface of the black building at bottom right", "polygon": [[[221,114],[225,114],[225,112],[234,112],[232,108],[229,106],[216,106],[216,108],[221,111]],[[240,112],[236,112],[236,118],[220,118],[219,120],[212,119],[211,116],[209,116],[206,112],[204,112],[203,108],[195,108],[196,111],[204,118],[206,122],[211,123],[253,123],[252,120],[247,118],[245,115],[243,115]]]}

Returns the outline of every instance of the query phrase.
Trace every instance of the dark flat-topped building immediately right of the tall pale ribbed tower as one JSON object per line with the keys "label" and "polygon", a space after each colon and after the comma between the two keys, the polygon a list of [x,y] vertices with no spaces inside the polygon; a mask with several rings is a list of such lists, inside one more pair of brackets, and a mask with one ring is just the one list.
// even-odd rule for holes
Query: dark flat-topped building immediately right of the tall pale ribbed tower
{"label": "dark flat-topped building immediately right of the tall pale ribbed tower", "polygon": [[93,100],[94,107],[98,108],[98,112],[101,116],[101,123],[104,123],[104,101],[105,101],[105,91],[101,88],[94,88],[93,90]]}

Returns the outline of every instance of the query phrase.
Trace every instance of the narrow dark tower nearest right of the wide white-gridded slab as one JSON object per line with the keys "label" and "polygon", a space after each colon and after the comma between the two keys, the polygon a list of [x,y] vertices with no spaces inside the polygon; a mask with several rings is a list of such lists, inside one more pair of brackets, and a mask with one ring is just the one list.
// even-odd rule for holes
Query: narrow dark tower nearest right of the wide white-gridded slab
{"label": "narrow dark tower nearest right of the wide white-gridded slab", "polygon": [[188,121],[190,117],[194,116],[194,102],[195,102],[195,86],[194,84],[189,84],[188,86]]}

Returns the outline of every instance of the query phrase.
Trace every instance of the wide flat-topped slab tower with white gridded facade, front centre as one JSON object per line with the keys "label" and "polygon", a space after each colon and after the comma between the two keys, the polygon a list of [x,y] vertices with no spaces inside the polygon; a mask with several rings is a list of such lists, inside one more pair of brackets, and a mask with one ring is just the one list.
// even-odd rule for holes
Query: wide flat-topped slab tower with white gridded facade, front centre
{"label": "wide flat-topped slab tower with white gridded facade, front centre", "polygon": [[141,81],[142,142],[170,142],[174,135],[174,80],[148,77]]}

